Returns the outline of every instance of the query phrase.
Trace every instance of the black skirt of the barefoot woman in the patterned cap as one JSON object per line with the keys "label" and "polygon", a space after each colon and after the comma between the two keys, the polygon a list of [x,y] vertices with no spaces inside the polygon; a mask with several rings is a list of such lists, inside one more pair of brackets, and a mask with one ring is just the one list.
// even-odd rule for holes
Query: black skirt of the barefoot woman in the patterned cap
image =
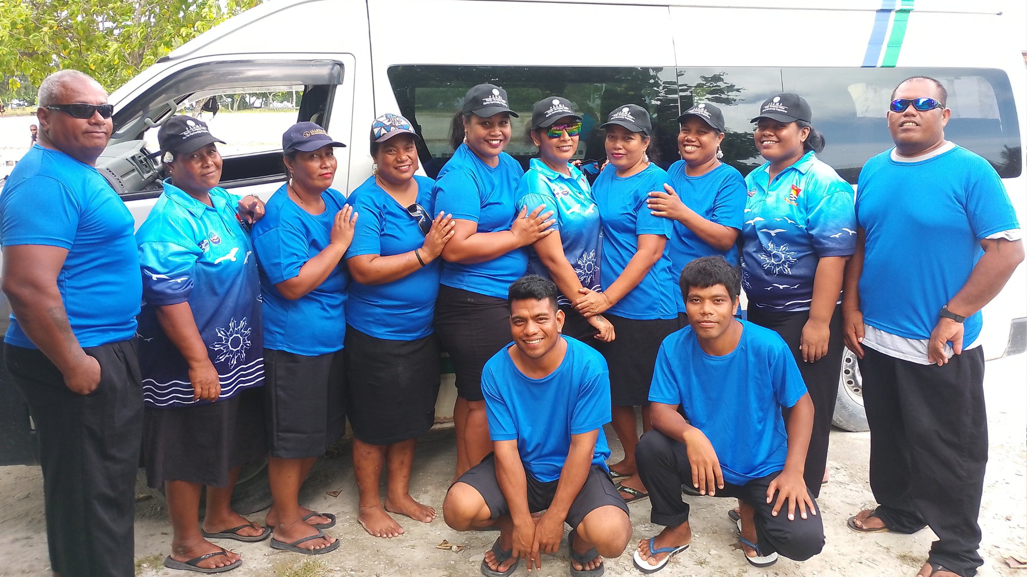
{"label": "black skirt of the barefoot woman in the patterned cap", "polygon": [[369,445],[392,445],[428,432],[442,369],[436,336],[392,341],[346,326],[343,352],[353,436]]}

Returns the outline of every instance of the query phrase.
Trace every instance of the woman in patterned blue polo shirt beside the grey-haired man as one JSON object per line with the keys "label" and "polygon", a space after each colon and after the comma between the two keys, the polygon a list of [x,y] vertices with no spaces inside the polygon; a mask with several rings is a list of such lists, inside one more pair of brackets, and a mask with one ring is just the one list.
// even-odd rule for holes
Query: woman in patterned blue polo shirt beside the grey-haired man
{"label": "woman in patterned blue polo shirt beside the grey-haired man", "polygon": [[[169,178],[136,234],[146,304],[139,317],[147,483],[164,488],[170,569],[235,569],[239,555],[206,539],[261,541],[270,531],[231,508],[243,463],[267,451],[261,391],[260,280],[250,234],[254,196],[218,187],[221,155],[206,124],[173,116],[157,140]],[[206,486],[202,529],[200,493]]]}

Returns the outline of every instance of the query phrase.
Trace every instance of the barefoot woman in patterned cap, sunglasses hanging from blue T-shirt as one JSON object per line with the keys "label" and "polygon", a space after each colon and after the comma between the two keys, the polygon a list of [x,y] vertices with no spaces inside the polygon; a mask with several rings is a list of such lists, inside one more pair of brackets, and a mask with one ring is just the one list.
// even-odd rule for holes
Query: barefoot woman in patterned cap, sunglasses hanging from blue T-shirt
{"label": "barefoot woman in patterned cap, sunglasses hanging from blue T-shirt", "polygon": [[[431,219],[431,186],[418,177],[417,133],[406,118],[384,114],[371,127],[373,175],[346,203],[360,214],[346,264],[353,282],[346,302],[347,417],[360,492],[356,521],[375,537],[404,530],[388,512],[423,523],[435,510],[410,496],[414,445],[434,423],[439,339],[431,323],[443,246],[453,221]],[[378,493],[388,459],[388,496]]]}

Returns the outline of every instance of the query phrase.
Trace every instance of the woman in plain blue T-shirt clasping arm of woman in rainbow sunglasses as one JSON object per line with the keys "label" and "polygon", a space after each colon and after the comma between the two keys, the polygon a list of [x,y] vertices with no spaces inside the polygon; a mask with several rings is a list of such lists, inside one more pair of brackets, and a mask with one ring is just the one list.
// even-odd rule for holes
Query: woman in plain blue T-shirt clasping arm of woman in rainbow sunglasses
{"label": "woman in plain blue T-shirt clasping arm of woman in rainbow sunglasses", "polygon": [[610,468],[615,476],[631,477],[619,488],[625,501],[635,501],[647,495],[635,465],[635,408],[642,407],[642,427],[649,430],[656,353],[663,338],[678,330],[667,247],[671,221],[646,206],[649,193],[663,190],[670,178],[650,162],[652,121],[644,108],[614,108],[600,128],[606,129],[610,161],[593,185],[603,223],[603,291],[584,288],[574,308],[586,317],[605,313],[617,332],[616,340],[597,343],[597,348],[610,367],[613,430],[624,448],[623,460]]}

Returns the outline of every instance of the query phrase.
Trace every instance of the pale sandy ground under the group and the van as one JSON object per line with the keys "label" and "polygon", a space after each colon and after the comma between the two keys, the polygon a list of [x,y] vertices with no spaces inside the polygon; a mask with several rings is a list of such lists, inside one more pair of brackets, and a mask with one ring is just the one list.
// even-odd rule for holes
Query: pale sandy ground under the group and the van
{"label": "pale sandy ground under the group and the van", "polygon": [[[984,532],[981,552],[985,559],[982,576],[1023,575],[1022,571],[1006,568],[1002,559],[1027,552],[1025,375],[1025,355],[990,361],[987,366],[985,384],[991,453],[981,510]],[[614,459],[618,459],[620,448],[610,431],[607,434],[611,436]],[[935,539],[929,529],[916,535],[860,535],[845,527],[849,515],[874,502],[867,480],[869,441],[869,433],[839,430],[832,433],[831,483],[825,486],[820,500],[827,533],[827,545],[822,554],[805,563],[782,559],[764,570],[750,567],[735,546],[736,534],[726,516],[732,505],[730,500],[690,498],[695,534],[692,548],[674,559],[661,575],[912,577],[923,564]],[[433,432],[422,439],[414,463],[412,493],[415,498],[441,509],[452,474],[454,453],[451,430]],[[243,566],[232,572],[234,577],[480,575],[478,568],[482,555],[491,546],[496,533],[456,533],[446,527],[442,518],[429,525],[402,518],[407,533],[396,539],[376,539],[364,532],[356,523],[356,487],[349,459],[348,447],[337,458],[321,459],[301,494],[301,501],[307,506],[339,516],[339,524],[329,533],[340,538],[342,546],[329,554],[307,557],[272,551],[267,542],[223,541],[221,544],[239,551],[244,559]],[[341,493],[337,498],[327,494],[339,489]],[[631,510],[636,541],[658,531],[648,523],[648,500],[632,504]],[[264,515],[258,513],[251,517],[263,521]],[[160,565],[168,551],[169,532],[170,526],[159,503],[141,502],[136,517],[136,554],[140,564],[146,563],[147,567],[141,567],[140,574],[177,573]],[[435,548],[444,539],[466,548],[460,552]],[[4,575],[47,575],[42,479],[38,467],[0,467],[0,559],[3,559],[0,573]],[[543,559],[542,570],[537,574],[540,577],[568,575],[567,567],[565,540],[558,555]],[[523,565],[518,574],[525,575]],[[632,566],[631,555],[625,553],[607,561],[607,575],[639,573]]]}

